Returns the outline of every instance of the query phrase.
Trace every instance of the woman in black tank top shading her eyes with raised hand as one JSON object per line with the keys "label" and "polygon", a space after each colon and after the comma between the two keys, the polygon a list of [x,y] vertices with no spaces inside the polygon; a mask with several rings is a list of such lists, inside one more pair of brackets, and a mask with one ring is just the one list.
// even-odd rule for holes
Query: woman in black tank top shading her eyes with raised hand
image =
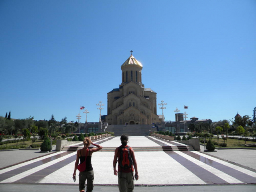
{"label": "woman in black tank top shading her eyes with raised hand", "polygon": [[[79,170],[79,191],[85,192],[85,181],[87,180],[86,191],[91,192],[93,190],[94,173],[91,165],[91,155],[94,152],[98,152],[102,149],[102,146],[91,142],[91,139],[86,137],[83,140],[83,149],[77,151],[77,158],[75,161],[75,170],[73,178],[75,181],[76,170]],[[88,149],[90,145],[96,146],[97,148]],[[80,164],[79,163],[80,159]]]}

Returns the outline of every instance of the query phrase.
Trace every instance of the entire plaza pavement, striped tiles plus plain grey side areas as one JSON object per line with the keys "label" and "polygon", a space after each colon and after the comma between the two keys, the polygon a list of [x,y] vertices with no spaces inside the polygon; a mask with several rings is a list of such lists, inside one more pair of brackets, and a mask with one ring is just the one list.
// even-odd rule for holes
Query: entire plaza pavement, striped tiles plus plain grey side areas
{"label": "entire plaza pavement, striped tiles plus plain grey side areas", "polygon": [[[120,137],[97,142],[103,147],[117,147]],[[130,137],[128,145],[153,147],[182,144],[155,137]],[[203,149],[201,146],[201,151]],[[77,191],[78,179],[75,183],[72,179],[75,155],[75,152],[0,152],[0,191],[42,191],[42,188],[44,191]],[[134,182],[134,191],[256,191],[255,150],[217,150],[211,154],[135,151],[135,155],[140,178]],[[113,157],[114,152],[93,154],[93,191],[118,191],[118,178],[112,168]]]}

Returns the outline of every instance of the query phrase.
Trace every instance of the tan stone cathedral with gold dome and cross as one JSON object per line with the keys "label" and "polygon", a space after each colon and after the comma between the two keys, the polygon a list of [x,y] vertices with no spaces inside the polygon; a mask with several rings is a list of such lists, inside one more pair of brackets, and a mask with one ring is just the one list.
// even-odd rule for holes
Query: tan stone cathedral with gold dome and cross
{"label": "tan stone cathedral with gold dome and cross", "polygon": [[121,65],[122,83],[108,93],[108,115],[105,122],[114,125],[147,125],[159,121],[156,113],[156,92],[142,83],[142,64],[132,51]]}

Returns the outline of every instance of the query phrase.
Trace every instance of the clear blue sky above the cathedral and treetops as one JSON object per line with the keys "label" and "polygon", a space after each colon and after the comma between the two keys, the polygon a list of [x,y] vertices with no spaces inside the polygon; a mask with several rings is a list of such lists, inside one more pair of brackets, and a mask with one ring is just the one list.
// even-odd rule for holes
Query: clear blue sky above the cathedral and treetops
{"label": "clear blue sky above the cathedral and treetops", "polygon": [[1,0],[0,115],[99,121],[131,49],[166,120],[252,117],[256,0]]}

